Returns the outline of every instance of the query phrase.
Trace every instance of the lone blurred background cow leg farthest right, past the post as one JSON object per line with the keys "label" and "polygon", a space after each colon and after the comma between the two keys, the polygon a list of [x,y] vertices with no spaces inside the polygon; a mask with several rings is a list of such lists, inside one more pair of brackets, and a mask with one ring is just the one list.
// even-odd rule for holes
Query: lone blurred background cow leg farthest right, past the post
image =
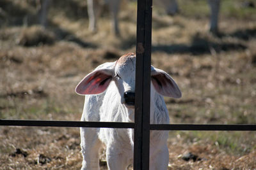
{"label": "lone blurred background cow leg farthest right, past the post", "polygon": [[218,17],[220,11],[220,0],[208,0],[211,9],[210,31],[218,33]]}

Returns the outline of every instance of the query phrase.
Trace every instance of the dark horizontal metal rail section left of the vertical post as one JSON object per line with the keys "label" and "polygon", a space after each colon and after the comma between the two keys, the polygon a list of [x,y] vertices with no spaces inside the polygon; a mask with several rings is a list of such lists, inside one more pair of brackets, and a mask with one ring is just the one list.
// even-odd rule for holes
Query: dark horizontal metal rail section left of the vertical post
{"label": "dark horizontal metal rail section left of the vertical post", "polygon": [[40,126],[40,127],[102,127],[102,128],[134,128],[134,123],[127,122],[83,122],[56,120],[6,120],[1,119],[0,125],[9,126]]}

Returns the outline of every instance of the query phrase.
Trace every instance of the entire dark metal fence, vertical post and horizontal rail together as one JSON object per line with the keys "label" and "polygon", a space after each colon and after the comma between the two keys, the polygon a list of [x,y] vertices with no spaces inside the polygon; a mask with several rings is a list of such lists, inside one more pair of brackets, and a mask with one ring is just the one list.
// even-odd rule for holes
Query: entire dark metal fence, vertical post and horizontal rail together
{"label": "entire dark metal fence, vertical post and horizontal rail together", "polygon": [[80,122],[56,120],[0,120],[1,126],[95,127],[134,129],[134,169],[149,169],[150,131],[256,131],[256,125],[150,124],[150,65],[152,0],[138,0],[136,37],[135,121]]}

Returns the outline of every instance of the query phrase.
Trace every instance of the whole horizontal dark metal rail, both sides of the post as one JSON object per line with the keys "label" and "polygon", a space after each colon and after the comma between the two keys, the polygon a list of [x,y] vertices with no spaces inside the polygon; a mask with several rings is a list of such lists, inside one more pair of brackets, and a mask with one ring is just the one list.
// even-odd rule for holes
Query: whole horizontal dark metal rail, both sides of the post
{"label": "whole horizontal dark metal rail, both sides of the post", "polygon": [[[57,120],[0,120],[1,126],[134,128],[127,122],[82,122]],[[150,124],[151,131],[256,131],[256,124]]]}

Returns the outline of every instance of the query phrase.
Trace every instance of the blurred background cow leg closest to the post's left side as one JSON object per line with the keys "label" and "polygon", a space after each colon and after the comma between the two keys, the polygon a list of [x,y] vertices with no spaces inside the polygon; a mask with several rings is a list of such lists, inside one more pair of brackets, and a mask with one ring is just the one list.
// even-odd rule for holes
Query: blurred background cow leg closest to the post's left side
{"label": "blurred background cow leg closest to the post's left side", "polygon": [[112,18],[113,18],[113,29],[115,32],[115,35],[120,35],[119,31],[119,25],[118,25],[118,12],[120,8],[120,0],[109,0],[109,11],[111,12]]}

